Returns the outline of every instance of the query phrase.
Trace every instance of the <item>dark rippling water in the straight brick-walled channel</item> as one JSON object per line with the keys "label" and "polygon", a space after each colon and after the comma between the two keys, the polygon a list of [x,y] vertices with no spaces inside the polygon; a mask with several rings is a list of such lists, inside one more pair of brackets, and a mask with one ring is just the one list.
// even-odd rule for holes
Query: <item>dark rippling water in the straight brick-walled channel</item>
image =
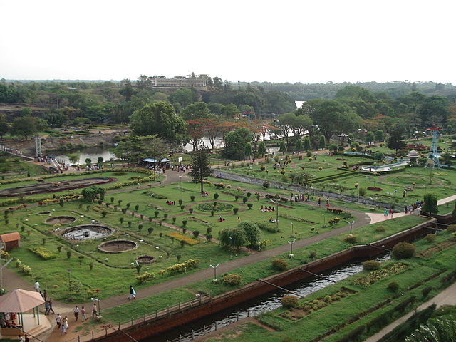
{"label": "dark rippling water in the straight brick-walled channel", "polygon": [[[382,254],[373,260],[381,262],[388,259],[390,259],[390,254]],[[341,281],[342,279],[348,278],[348,276],[353,276],[353,274],[357,274],[359,271],[362,271],[363,261],[366,260],[357,259],[355,261],[351,261],[336,268],[325,271],[321,273],[321,276],[324,276],[324,278],[311,276],[309,278],[303,279],[302,281],[296,281],[293,284],[289,284],[288,286],[283,287],[290,291],[294,291],[296,294],[299,294],[301,296],[307,296],[320,289],[325,288],[328,285],[333,284],[333,281]],[[238,317],[240,320],[242,318],[247,318],[248,316],[257,316],[266,311],[272,311],[281,306],[280,299],[286,294],[289,293],[284,290],[278,289],[276,291],[271,291],[268,294],[264,294],[255,299],[244,301],[244,303],[240,304],[237,307],[225,309],[217,312],[216,314],[211,314],[210,316],[199,318],[195,321],[192,321],[192,323],[185,324],[184,326],[179,326],[172,329],[172,331],[167,331],[165,333],[160,333],[150,338],[146,338],[141,342],[166,342],[171,341],[175,338],[178,339],[180,336],[182,336],[182,342],[191,341],[192,338],[185,337],[185,335],[189,333],[191,334],[192,331],[195,331],[195,337],[202,335],[202,332],[196,333],[196,331],[200,331],[204,326],[207,333],[215,329],[214,323],[217,323],[217,327],[221,328],[223,326],[227,326],[231,323],[236,322],[238,320]]]}

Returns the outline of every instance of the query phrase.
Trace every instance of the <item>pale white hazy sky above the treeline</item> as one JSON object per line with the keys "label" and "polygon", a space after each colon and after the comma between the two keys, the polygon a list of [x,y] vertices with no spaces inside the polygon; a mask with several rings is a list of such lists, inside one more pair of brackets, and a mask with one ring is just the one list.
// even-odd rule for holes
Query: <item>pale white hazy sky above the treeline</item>
{"label": "pale white hazy sky above the treeline", "polygon": [[455,0],[0,0],[0,78],[456,84]]}

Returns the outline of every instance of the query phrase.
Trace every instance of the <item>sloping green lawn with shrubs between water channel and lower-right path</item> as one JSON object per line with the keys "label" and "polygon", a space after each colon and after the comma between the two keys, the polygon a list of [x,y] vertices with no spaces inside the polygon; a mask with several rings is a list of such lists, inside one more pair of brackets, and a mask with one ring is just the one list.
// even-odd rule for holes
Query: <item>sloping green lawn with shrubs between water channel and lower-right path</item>
{"label": "sloping green lawn with shrubs between water channel and lower-right path", "polygon": [[[442,232],[435,240],[415,242],[415,247],[421,252],[454,239],[452,233]],[[361,271],[296,304],[283,301],[281,308],[260,315],[259,321],[274,331],[245,323],[207,341],[233,341],[233,336],[236,341],[296,341],[294,336],[299,341],[363,341],[450,284],[445,279],[454,270],[455,256],[452,245],[426,259],[385,261],[380,271]]]}

